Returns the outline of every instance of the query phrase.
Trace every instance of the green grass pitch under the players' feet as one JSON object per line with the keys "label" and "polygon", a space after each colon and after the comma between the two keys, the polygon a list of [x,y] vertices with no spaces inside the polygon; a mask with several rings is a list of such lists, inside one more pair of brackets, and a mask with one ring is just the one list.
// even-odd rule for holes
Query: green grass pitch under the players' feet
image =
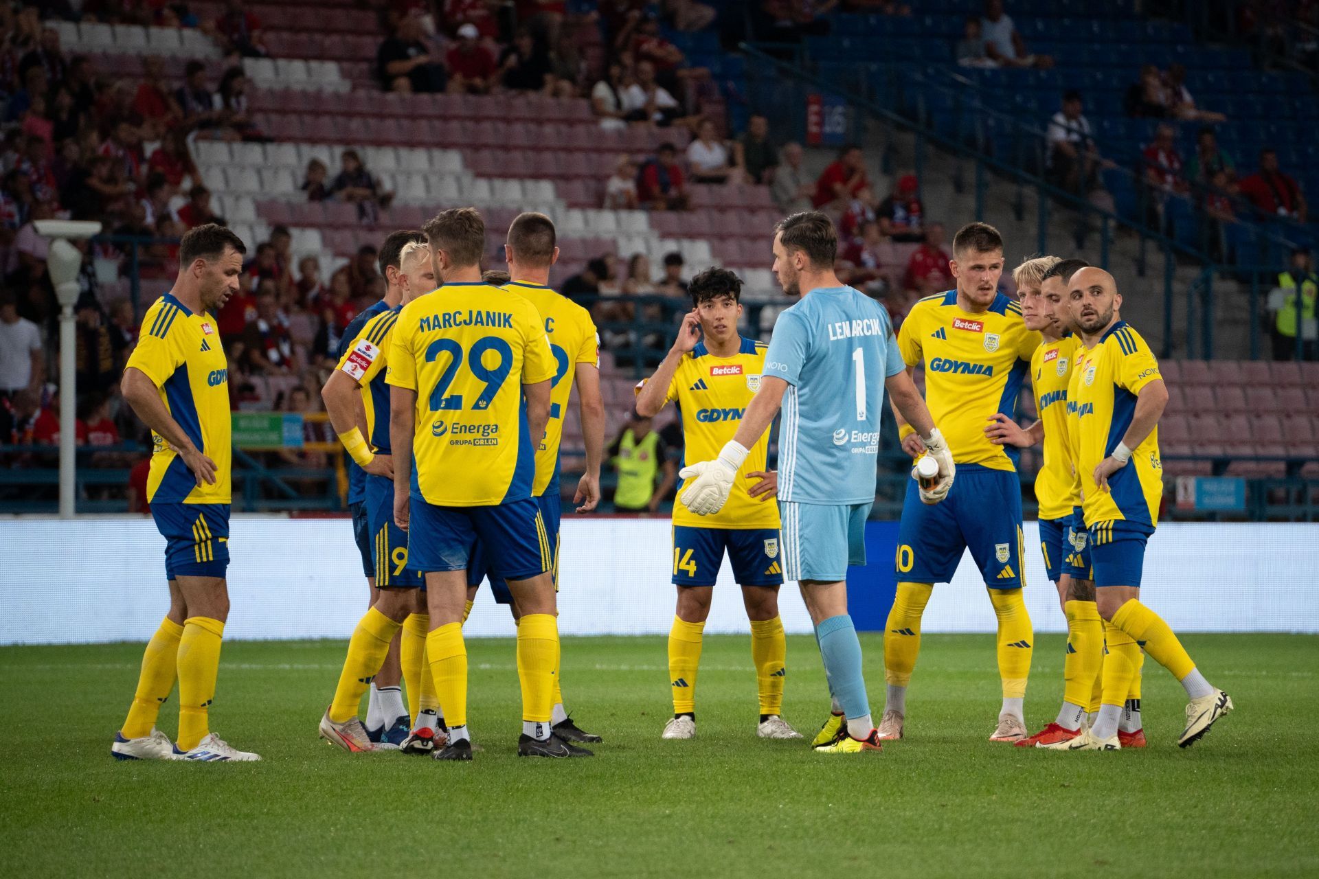
{"label": "green grass pitch under the players' feet", "polygon": [[[863,635],[872,704],[878,635]],[[574,638],[563,685],[592,760],[514,755],[510,639],[470,640],[470,764],[350,755],[317,739],[342,642],[230,643],[215,730],[255,764],[120,763],[109,743],[140,644],[0,650],[5,875],[1124,876],[1319,875],[1319,638],[1190,635],[1236,702],[1181,750],[1182,689],[1148,662],[1150,747],[1025,751],[985,739],[993,638],[927,635],[909,738],[859,758],[754,738],[745,637],[706,639],[699,738],[662,742],[662,638]],[[1043,635],[1028,725],[1051,720],[1063,640]],[[789,640],[785,716],[824,718],[815,643]],[[175,700],[161,726],[173,734]],[[1112,872],[1117,871],[1117,872]]]}

